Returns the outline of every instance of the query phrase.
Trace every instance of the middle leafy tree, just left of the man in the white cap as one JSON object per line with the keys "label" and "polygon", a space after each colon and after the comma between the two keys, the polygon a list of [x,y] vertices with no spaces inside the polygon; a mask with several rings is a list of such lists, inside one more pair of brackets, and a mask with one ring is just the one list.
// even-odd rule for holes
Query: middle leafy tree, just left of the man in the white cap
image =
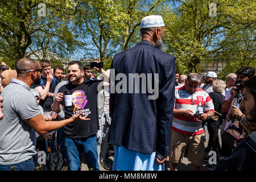
{"label": "middle leafy tree, just left of the man in the white cap", "polygon": [[124,51],[138,43],[143,16],[153,13],[164,1],[97,0],[76,1],[75,24],[82,33],[86,52],[105,57]]}

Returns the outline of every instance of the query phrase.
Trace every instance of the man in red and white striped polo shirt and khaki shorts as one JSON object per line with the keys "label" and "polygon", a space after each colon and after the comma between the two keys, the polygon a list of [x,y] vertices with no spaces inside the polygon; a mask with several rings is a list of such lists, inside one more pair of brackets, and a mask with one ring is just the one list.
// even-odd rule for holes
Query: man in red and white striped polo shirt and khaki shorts
{"label": "man in red and white striped polo shirt and khaki shorts", "polygon": [[[193,171],[199,170],[204,159],[204,129],[202,122],[214,115],[209,94],[198,88],[200,76],[189,73],[185,85],[175,89],[174,119],[172,121],[170,170],[175,171],[188,147],[188,160]],[[195,116],[201,104],[203,114]]]}

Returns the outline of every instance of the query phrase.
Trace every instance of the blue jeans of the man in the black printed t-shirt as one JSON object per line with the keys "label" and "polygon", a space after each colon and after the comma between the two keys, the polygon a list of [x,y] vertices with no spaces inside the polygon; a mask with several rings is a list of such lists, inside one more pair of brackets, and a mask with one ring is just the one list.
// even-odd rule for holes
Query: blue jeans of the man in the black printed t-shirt
{"label": "blue jeans of the man in the black printed t-shirt", "polygon": [[71,171],[80,171],[80,155],[85,154],[88,168],[99,171],[96,135],[88,138],[65,138],[65,149],[68,156],[68,166]]}

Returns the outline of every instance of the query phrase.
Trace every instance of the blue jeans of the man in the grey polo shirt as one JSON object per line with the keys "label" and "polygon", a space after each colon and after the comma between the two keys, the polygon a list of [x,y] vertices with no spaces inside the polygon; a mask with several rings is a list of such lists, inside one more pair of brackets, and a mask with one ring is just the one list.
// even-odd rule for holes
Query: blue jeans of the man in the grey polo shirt
{"label": "blue jeans of the man in the grey polo shirt", "polygon": [[11,167],[13,166],[14,166],[14,171],[34,171],[35,170],[34,157],[18,164],[0,165],[0,171],[11,171]]}

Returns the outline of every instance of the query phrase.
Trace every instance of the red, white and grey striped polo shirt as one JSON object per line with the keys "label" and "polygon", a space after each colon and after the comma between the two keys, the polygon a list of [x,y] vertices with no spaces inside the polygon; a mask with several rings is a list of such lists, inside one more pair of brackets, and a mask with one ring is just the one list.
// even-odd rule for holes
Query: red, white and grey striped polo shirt
{"label": "red, white and grey striped polo shirt", "polygon": [[[193,105],[192,105],[193,98]],[[209,94],[202,89],[197,88],[193,94],[185,90],[185,85],[175,89],[174,109],[178,110],[192,110],[193,114],[196,112],[196,107],[201,102],[204,108],[204,113],[214,111],[214,105]],[[189,119],[183,116],[174,116],[172,121],[172,130],[184,135],[199,135],[204,133],[202,121],[198,118]]]}

